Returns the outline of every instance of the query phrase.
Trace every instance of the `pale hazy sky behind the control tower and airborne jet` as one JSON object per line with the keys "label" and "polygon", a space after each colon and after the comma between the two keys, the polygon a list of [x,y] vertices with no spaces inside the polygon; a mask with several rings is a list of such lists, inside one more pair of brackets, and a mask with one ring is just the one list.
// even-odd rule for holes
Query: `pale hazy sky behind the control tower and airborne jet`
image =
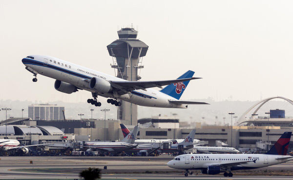
{"label": "pale hazy sky behind the control tower and airborne jet", "polygon": [[[292,95],[292,1],[0,0],[0,99],[80,102],[54,80],[25,70],[31,54],[54,56],[114,75],[106,46],[133,23],[149,45],[142,80],[196,77],[182,99],[259,100]],[[231,98],[232,97],[232,98]],[[102,102],[105,98],[100,98]]]}

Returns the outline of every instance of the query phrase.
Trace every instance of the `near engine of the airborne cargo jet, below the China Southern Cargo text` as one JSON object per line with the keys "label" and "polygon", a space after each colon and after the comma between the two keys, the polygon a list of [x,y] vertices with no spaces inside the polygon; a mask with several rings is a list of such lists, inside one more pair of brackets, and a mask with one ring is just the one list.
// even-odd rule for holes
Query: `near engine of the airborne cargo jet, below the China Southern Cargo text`
{"label": "near engine of the airborne cargo jet, below the China Southern Cargo text", "polygon": [[110,92],[112,90],[111,84],[108,81],[97,77],[91,78],[90,88],[101,94]]}

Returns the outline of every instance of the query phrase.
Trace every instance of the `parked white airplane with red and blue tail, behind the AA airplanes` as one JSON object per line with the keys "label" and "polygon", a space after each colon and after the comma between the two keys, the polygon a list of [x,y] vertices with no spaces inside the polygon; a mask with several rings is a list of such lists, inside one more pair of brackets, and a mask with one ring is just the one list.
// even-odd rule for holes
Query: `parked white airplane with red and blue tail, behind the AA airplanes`
{"label": "parked white airplane with red and blue tail, behind the AA airplanes", "polygon": [[[126,137],[127,134],[130,133],[129,129],[124,125],[120,124],[123,136]],[[193,136],[194,137],[194,136]],[[137,144],[143,144],[143,143],[163,143],[166,141],[172,141],[173,144],[178,144],[183,142],[185,139],[136,139],[135,143]],[[198,139],[193,139],[193,144],[198,144],[200,140]]]}

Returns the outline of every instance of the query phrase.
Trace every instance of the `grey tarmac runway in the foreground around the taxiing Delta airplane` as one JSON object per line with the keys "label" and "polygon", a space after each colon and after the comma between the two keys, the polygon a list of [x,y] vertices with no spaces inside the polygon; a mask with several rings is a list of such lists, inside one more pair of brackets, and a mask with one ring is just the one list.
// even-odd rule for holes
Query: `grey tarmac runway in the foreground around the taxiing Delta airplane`
{"label": "grey tarmac runway in the foreground around the taxiing Delta airplane", "polygon": [[[102,170],[103,179],[293,179],[293,161],[245,172],[234,171],[231,178],[222,174],[202,175],[200,171],[193,171],[193,175],[185,177],[183,170],[166,166],[166,162],[173,159],[171,156],[0,158],[0,179],[81,179],[78,174],[82,170],[88,167],[103,169],[104,166],[107,166],[107,169]],[[33,164],[30,164],[30,161]]]}

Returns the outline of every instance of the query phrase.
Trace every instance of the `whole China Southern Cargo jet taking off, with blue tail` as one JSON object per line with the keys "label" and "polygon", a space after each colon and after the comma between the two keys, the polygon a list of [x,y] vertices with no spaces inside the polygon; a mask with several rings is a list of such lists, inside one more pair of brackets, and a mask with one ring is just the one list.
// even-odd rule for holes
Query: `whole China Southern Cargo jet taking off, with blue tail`
{"label": "whole China Southern Cargo jet taking off, with blue tail", "polygon": [[[33,73],[37,81],[37,74],[56,79],[54,87],[60,92],[71,94],[78,90],[87,90],[92,93],[93,99],[87,102],[101,106],[97,97],[109,98],[108,103],[121,106],[123,100],[140,106],[187,108],[187,104],[207,104],[204,102],[180,101],[180,97],[194,72],[187,71],[176,80],[161,81],[127,81],[110,76],[89,68],[85,68],[67,61],[50,56],[30,55],[22,59],[25,69]],[[151,89],[162,88],[160,91]]]}

